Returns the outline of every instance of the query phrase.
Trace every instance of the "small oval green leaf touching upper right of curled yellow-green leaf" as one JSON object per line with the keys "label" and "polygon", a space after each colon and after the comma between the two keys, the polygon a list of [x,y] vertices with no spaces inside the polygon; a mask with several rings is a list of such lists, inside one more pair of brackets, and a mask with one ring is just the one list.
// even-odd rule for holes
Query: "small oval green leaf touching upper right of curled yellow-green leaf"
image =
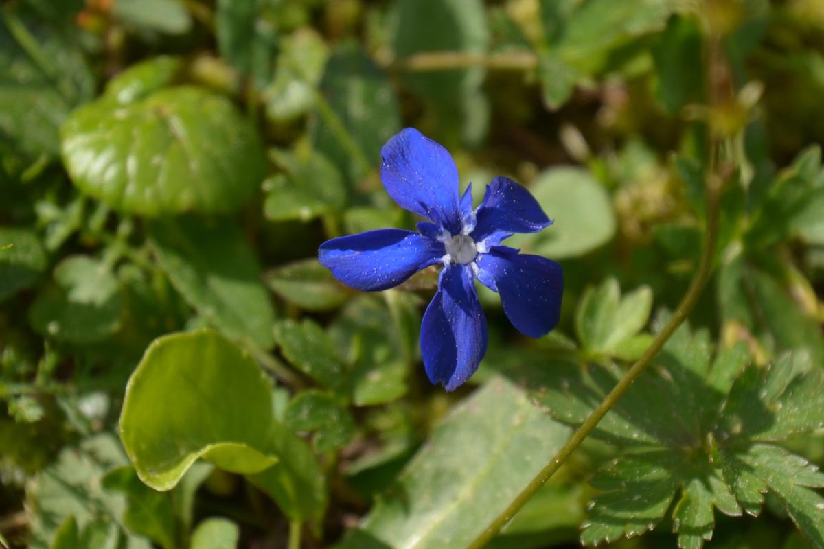
{"label": "small oval green leaf touching upper right of curled yellow-green leaf", "polygon": [[344,365],[323,328],[307,319],[302,323],[283,320],[275,325],[274,337],[283,356],[319,384],[341,393]]}

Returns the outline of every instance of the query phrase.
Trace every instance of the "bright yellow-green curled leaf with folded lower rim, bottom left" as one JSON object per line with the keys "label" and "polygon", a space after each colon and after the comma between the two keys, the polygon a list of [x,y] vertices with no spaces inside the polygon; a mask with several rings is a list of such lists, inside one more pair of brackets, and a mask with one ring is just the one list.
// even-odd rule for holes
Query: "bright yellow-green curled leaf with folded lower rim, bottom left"
{"label": "bright yellow-green curled leaf with folded lower rim, bottom left", "polygon": [[160,337],[129,379],[120,439],[155,490],[170,490],[204,458],[247,475],[291,519],[314,518],[325,498],[320,468],[274,419],[272,394],[263,370],[218,333]]}

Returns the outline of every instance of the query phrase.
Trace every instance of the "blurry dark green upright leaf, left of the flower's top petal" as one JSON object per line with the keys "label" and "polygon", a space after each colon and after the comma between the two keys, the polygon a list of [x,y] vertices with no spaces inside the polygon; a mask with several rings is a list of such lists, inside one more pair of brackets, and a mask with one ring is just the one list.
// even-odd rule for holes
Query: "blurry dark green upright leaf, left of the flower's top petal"
{"label": "blurry dark green upright leaf, left of the flower's top petal", "polygon": [[[400,130],[400,106],[391,81],[357,44],[346,43],[333,52],[321,79],[321,94],[328,101],[331,115],[343,124],[335,128],[330,117],[318,117],[312,137],[321,151],[339,167],[350,184],[363,178],[381,160],[381,147]],[[330,126],[330,123],[332,124]],[[351,147],[342,141],[341,131],[365,159],[353,157]],[[368,165],[363,165],[363,161]]]}

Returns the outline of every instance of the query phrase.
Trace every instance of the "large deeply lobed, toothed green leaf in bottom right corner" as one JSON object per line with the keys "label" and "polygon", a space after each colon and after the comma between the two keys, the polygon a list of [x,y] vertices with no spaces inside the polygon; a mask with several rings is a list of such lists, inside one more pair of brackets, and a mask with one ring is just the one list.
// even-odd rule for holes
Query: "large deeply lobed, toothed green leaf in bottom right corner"
{"label": "large deeply lobed, toothed green leaf in bottom right corner", "polygon": [[[824,486],[824,474],[771,443],[824,425],[824,372],[806,371],[789,357],[769,369],[745,367],[743,346],[719,351],[714,360],[709,349],[705,333],[681,326],[593,431],[625,450],[592,479],[603,493],[583,525],[585,544],[651,530],[677,500],[672,523],[679,547],[700,549],[712,536],[714,508],[757,514],[765,491],[796,514],[807,537],[821,539],[824,505],[799,505],[824,501],[809,490]],[[569,364],[513,375],[541,388],[539,402],[577,426],[620,373]]]}

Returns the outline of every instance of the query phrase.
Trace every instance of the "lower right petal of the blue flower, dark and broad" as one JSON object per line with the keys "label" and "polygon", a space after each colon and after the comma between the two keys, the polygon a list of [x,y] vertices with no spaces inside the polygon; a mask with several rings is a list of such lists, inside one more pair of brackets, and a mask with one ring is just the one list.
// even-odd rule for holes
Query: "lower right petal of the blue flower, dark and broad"
{"label": "lower right petal of the blue flower, dark and broad", "polygon": [[513,254],[498,247],[488,254],[479,254],[476,263],[480,280],[481,276],[494,280],[503,312],[518,331],[541,337],[555,328],[564,293],[564,272],[558,263],[540,255]]}

